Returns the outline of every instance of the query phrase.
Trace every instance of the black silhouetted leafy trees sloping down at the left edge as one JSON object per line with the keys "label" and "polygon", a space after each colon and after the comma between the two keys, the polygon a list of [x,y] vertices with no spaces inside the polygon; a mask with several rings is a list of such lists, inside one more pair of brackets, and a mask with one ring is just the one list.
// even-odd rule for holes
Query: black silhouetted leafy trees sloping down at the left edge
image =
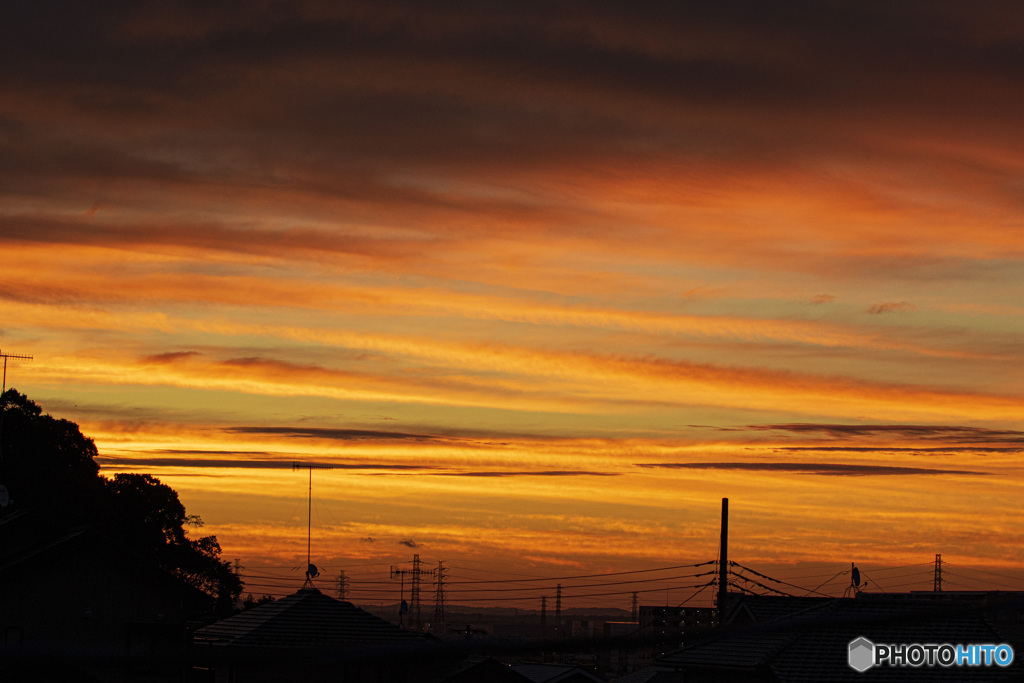
{"label": "black silhouetted leafy trees sloping down at the left edge", "polygon": [[10,508],[32,508],[61,525],[91,525],[214,596],[218,610],[231,608],[242,581],[220,559],[216,537],[189,538],[185,527],[203,522],[185,513],[177,492],[150,474],[100,476],[93,440],[14,389],[0,396],[0,483]]}

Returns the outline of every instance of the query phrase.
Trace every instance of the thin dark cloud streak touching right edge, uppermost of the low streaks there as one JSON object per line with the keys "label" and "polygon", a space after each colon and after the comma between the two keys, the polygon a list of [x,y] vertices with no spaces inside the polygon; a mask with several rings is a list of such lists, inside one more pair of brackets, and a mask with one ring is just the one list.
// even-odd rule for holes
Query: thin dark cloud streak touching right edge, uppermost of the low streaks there
{"label": "thin dark cloud streak touching right edge, uppermost of the low streaks there", "polygon": [[845,425],[816,423],[786,423],[749,425],[754,431],[780,431],[796,434],[824,434],[833,438],[851,439],[864,437],[916,438],[926,441],[944,441],[950,444],[980,444],[990,446],[1024,446],[1024,431],[1012,429],[986,429],[984,427],[958,427],[948,425]]}

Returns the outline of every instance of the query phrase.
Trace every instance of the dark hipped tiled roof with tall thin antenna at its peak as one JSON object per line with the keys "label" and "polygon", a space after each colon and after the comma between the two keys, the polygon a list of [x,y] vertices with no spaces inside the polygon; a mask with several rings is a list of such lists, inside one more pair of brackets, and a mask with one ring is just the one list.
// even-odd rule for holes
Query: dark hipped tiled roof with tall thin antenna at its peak
{"label": "dark hipped tiled roof with tall thin antenna at its peak", "polygon": [[196,632],[197,644],[266,648],[344,648],[413,644],[420,636],[314,588],[229,616]]}

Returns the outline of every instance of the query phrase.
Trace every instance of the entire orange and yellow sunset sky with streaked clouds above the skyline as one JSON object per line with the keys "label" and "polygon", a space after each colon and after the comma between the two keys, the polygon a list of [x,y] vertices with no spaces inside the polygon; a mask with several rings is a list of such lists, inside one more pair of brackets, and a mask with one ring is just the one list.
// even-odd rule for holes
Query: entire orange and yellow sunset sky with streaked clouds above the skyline
{"label": "entire orange and yellow sunset sky with streaked clouds above the skyline", "polygon": [[1024,589],[1019,2],[101,6],[0,22],[7,386],[254,592],[293,462],[385,588],[702,562],[727,497],[775,577]]}

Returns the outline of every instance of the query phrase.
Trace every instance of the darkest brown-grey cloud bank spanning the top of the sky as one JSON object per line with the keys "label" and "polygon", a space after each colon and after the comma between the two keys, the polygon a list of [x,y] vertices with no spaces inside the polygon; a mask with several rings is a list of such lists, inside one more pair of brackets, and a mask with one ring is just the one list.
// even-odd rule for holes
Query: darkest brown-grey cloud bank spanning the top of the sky
{"label": "darkest brown-grey cloud bank spanning the top of the sky", "polygon": [[[398,159],[581,161],[651,142],[800,155],[778,142],[843,144],[821,115],[851,105],[891,119],[985,112],[1009,126],[1021,103],[980,87],[1024,74],[1005,31],[1020,14],[1011,3],[811,0],[15,3],[0,29],[0,134],[18,131],[4,134],[15,151],[31,140],[8,155],[14,168],[48,165],[51,176],[130,163],[151,165],[140,175],[215,178],[240,154],[297,181],[309,164],[345,167],[336,159],[372,159],[360,170],[373,177]],[[694,105],[750,113],[700,118]],[[790,125],[759,124],[776,116]],[[121,135],[91,136],[98,150],[69,157],[76,144],[60,130],[72,121]],[[181,150],[207,152],[208,166],[171,161]]]}

